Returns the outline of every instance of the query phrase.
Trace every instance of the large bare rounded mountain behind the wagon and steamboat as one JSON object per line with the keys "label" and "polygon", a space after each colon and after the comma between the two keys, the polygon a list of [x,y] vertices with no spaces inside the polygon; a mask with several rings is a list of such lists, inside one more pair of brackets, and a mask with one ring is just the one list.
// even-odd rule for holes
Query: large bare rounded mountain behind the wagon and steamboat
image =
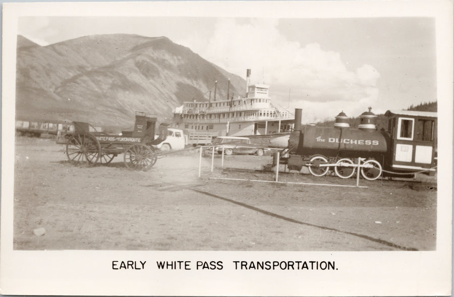
{"label": "large bare rounded mountain behind the wagon and steamboat", "polygon": [[40,46],[18,36],[16,117],[129,127],[135,111],[171,118],[184,101],[243,94],[246,81],[166,37],[84,36]]}

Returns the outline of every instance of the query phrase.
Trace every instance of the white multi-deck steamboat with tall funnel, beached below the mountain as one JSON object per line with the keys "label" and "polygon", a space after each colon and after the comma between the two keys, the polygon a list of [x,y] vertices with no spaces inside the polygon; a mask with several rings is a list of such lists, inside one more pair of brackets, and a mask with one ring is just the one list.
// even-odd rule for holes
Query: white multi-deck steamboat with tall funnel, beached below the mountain
{"label": "white multi-deck steamboat with tall funnel, beached below the mountain", "polygon": [[[286,137],[293,129],[295,115],[272,105],[266,84],[249,85],[245,97],[209,102],[184,102],[174,110],[174,126],[190,133],[251,138]],[[288,139],[288,137],[287,137]],[[272,143],[273,141],[270,140]]]}

